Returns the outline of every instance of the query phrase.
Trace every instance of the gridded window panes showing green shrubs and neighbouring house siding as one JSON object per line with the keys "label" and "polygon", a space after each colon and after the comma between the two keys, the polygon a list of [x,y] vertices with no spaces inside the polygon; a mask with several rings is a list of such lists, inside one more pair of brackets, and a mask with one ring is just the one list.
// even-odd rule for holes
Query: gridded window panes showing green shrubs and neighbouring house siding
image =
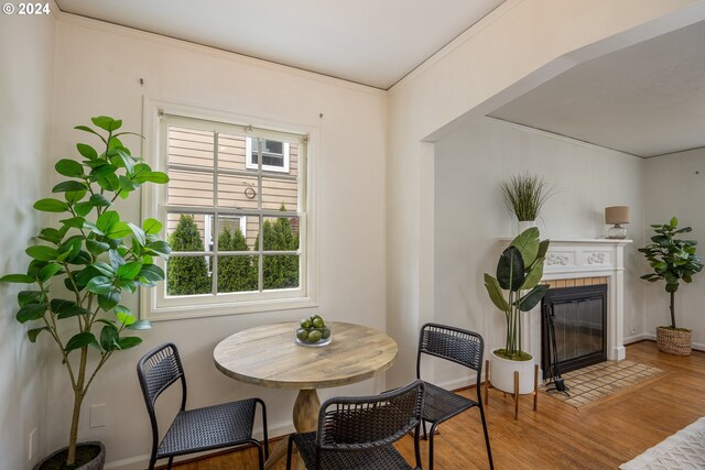
{"label": "gridded window panes showing green shrubs and neighbouring house siding", "polygon": [[160,118],[159,156],[170,182],[155,199],[173,252],[152,318],[311,299],[306,142],[294,133]]}

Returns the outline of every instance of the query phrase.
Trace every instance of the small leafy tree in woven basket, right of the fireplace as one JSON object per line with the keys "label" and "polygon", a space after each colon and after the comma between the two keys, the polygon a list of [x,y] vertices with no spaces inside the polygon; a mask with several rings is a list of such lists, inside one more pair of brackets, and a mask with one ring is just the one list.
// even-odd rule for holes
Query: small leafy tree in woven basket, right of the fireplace
{"label": "small leafy tree in woven basket, right of the fireplace", "polygon": [[693,229],[679,229],[677,225],[679,220],[673,217],[669,223],[651,226],[657,234],[651,237],[651,244],[639,251],[649,261],[653,273],[644,274],[641,278],[649,282],[664,281],[665,292],[670,294],[671,324],[657,327],[659,350],[674,356],[690,356],[693,331],[675,325],[675,293],[681,281],[693,281],[693,275],[703,270],[703,263],[695,253],[697,241],[677,238]]}

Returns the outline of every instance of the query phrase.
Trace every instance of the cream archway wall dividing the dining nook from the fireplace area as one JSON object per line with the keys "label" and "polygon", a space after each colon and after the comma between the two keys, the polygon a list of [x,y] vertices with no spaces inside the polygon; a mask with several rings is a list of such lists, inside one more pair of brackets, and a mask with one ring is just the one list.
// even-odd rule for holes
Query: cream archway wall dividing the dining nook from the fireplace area
{"label": "cream archway wall dividing the dining nook from the fireplace area", "polygon": [[703,10],[675,0],[509,0],[390,90],[387,325],[402,351],[390,385],[413,375],[415,331],[436,315],[433,150],[424,142],[575,64],[699,21]]}

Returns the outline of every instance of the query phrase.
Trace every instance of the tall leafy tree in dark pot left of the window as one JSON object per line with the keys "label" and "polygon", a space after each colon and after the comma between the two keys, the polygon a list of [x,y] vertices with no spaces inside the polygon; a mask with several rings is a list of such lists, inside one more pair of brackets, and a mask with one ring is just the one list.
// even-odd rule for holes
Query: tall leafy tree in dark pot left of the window
{"label": "tall leafy tree in dark pot left of the window", "polygon": [[96,128],[76,129],[90,133],[99,146],[79,143],[80,157],[59,160],[55,170],[66,179],[53,187],[56,197],[34,204],[36,210],[56,214],[58,222],[42,229],[40,242],[25,250],[31,258],[25,273],[0,277],[31,285],[18,295],[17,319],[32,325],[31,342],[55,345],[73,391],[68,446],[40,462],[40,469],[102,468],[102,445],[78,444],[82,403],[106,361],[142,341],[130,334],[151,327],[124,305],[123,294],[162,281],[164,272],[154,260],[171,251],[159,236],[158,220],[133,223],[115,206],[143,184],[166,183],[167,175],[153,172],[124,146],[124,135],[138,134],[118,132],[122,121],[106,116],[91,121]]}

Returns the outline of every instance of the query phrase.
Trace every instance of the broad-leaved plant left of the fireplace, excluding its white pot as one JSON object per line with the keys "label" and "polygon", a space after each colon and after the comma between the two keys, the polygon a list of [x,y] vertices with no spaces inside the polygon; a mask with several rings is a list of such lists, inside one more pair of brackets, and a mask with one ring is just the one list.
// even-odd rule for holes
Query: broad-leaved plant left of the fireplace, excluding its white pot
{"label": "broad-leaved plant left of the fireplace, excluding its white pot", "polygon": [[521,350],[521,313],[535,307],[549,289],[547,285],[539,284],[549,243],[539,240],[535,227],[527,229],[499,256],[497,277],[485,273],[489,298],[507,320],[506,346],[495,351],[501,358],[531,360],[531,354]]}

